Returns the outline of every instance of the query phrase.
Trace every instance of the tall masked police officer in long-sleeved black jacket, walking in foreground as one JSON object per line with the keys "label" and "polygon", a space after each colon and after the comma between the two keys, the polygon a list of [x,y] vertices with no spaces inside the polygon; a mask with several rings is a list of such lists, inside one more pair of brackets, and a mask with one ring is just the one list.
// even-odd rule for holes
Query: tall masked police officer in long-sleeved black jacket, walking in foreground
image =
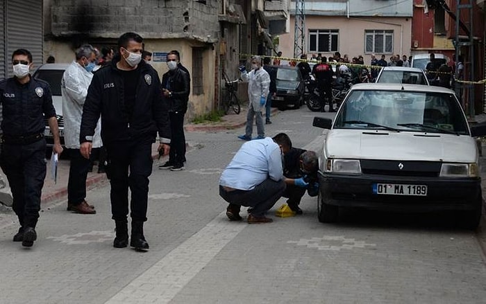
{"label": "tall masked police officer in long-sleeved black jacket, walking in foreground", "polygon": [[[152,172],[152,143],[169,154],[170,126],[162,100],[158,73],[142,60],[143,39],[125,33],[118,39],[119,55],[94,73],[81,120],[81,154],[89,158],[94,128],[101,114],[101,139],[108,153],[112,219],[116,224],[113,247],[128,246],[128,188],[131,190],[130,246],[149,249],[143,233]],[[128,173],[129,172],[129,173]]]}

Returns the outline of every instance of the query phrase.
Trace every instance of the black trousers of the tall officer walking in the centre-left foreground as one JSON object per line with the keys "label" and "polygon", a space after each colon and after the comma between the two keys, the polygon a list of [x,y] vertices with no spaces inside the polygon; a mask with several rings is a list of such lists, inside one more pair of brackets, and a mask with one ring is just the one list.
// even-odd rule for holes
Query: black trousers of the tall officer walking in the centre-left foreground
{"label": "black trousers of the tall officer walking in the centre-left foreground", "polygon": [[105,147],[110,171],[112,219],[126,220],[130,188],[130,216],[133,221],[145,222],[153,164],[151,141],[117,141],[105,143]]}

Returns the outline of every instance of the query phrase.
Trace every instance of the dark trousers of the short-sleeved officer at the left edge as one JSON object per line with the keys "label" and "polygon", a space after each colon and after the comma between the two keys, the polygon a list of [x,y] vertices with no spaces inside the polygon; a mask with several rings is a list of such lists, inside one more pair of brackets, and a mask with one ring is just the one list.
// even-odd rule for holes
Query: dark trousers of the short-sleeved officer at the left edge
{"label": "dark trousers of the short-sleeved officer at the left edge", "polygon": [[39,219],[40,195],[46,177],[46,141],[28,145],[3,143],[0,166],[13,196],[13,211],[23,227],[35,228]]}

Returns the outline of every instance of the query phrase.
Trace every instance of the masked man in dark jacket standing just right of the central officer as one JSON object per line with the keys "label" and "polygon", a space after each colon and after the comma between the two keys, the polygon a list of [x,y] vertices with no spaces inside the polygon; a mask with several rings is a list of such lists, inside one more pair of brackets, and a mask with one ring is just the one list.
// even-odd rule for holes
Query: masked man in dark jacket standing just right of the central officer
{"label": "masked man in dark jacket standing just right of the central officer", "polygon": [[159,169],[170,169],[171,171],[184,169],[184,115],[189,101],[189,74],[179,68],[178,61],[177,54],[169,52],[167,54],[169,71],[162,75],[162,94],[165,102],[169,104],[172,139],[169,160],[159,166]]}

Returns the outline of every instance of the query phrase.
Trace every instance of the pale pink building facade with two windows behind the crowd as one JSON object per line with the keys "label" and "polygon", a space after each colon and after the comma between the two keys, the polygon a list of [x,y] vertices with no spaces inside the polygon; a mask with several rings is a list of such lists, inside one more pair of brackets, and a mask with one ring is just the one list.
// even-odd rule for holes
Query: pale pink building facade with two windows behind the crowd
{"label": "pale pink building facade with two windows behind the crowd", "polygon": [[[295,1],[289,3],[290,24],[294,24]],[[364,55],[410,55],[412,0],[305,1],[305,51],[329,57],[340,52]],[[292,56],[294,28],[280,35],[279,51]]]}

